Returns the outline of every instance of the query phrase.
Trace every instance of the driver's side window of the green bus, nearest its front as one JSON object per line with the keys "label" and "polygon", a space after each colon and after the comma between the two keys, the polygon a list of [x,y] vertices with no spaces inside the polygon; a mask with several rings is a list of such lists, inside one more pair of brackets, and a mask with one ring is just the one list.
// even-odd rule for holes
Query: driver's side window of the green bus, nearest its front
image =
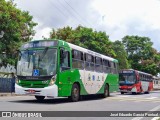
{"label": "driver's side window of the green bus, nearest its front", "polygon": [[60,69],[61,71],[70,69],[70,54],[69,51],[60,50]]}

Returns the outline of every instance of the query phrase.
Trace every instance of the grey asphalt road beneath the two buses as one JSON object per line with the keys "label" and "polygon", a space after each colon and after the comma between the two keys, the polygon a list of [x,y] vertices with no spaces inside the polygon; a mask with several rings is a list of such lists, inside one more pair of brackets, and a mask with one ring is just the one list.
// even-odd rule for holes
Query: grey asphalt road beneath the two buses
{"label": "grey asphalt road beneath the two buses", "polygon": [[[69,102],[67,98],[46,98],[43,102],[38,102],[34,96],[5,96],[0,97],[0,111],[160,111],[160,91],[137,95],[111,93],[110,97],[105,99],[87,96],[79,102]],[[74,120],[75,117],[54,117],[55,119]],[[76,119],[150,120],[152,117],[78,117]]]}

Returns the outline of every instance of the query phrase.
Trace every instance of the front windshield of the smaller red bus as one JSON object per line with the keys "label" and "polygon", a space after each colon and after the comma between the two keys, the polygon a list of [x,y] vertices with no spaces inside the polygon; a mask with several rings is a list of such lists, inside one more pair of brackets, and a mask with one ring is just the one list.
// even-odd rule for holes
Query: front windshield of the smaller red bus
{"label": "front windshield of the smaller red bus", "polygon": [[122,84],[134,84],[136,82],[134,73],[120,73],[119,82]]}

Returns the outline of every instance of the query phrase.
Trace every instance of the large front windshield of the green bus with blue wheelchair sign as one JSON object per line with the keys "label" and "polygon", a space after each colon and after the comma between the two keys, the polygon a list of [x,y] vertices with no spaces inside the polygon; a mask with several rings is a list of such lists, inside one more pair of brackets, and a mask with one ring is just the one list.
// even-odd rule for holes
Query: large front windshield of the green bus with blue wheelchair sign
{"label": "large front windshield of the green bus with blue wheelchair sign", "polygon": [[17,64],[19,76],[50,76],[56,73],[57,49],[22,50]]}

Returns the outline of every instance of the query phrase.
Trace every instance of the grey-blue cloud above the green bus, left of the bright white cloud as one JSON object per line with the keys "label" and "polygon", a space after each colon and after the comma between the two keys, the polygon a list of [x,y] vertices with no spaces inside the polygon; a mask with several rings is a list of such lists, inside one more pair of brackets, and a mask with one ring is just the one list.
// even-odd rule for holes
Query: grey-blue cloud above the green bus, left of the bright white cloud
{"label": "grey-blue cloud above the green bus, left of the bright white cloud", "polygon": [[[90,9],[92,0],[14,0],[21,10],[29,11],[38,23],[35,39],[48,37],[45,30],[64,26],[77,27],[83,25],[94,27],[90,19],[96,19],[95,12]],[[41,33],[41,34],[40,34]]]}

